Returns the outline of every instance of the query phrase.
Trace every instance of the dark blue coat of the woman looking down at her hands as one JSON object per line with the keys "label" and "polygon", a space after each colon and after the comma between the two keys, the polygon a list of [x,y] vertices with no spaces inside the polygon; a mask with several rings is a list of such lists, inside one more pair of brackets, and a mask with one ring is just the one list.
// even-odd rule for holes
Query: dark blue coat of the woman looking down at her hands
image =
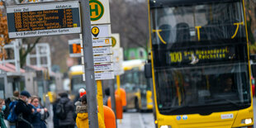
{"label": "dark blue coat of the woman looking down at her hands", "polygon": [[[43,107],[39,107],[40,109],[43,109]],[[32,125],[34,128],[46,128],[45,121],[41,120],[41,114],[40,112],[36,111],[36,107],[33,107],[35,110],[32,117]]]}

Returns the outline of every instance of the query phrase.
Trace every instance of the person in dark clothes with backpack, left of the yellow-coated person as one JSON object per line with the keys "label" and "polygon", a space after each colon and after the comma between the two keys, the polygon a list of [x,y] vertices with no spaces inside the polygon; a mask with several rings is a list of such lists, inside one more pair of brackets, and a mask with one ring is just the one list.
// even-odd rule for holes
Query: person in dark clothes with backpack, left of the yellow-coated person
{"label": "person in dark clothes with backpack, left of the yellow-coated person", "polygon": [[75,126],[75,121],[73,121],[73,110],[74,110],[73,102],[69,99],[67,92],[59,93],[59,97],[60,99],[59,99],[59,102],[57,103],[56,109],[59,109],[58,104],[61,104],[61,106],[64,107],[64,112],[65,112],[64,118],[61,118],[60,116],[58,116],[59,126],[61,128],[73,128]]}

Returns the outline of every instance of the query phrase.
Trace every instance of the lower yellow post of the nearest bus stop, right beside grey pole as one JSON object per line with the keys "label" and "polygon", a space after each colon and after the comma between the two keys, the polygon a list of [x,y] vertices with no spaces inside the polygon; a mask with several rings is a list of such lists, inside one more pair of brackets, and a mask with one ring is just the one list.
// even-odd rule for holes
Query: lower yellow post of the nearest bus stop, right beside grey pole
{"label": "lower yellow post of the nearest bus stop, right beside grey pole", "polygon": [[97,104],[98,104],[98,111],[102,116],[104,121],[104,110],[103,110],[103,94],[102,94],[102,81],[97,80]]}

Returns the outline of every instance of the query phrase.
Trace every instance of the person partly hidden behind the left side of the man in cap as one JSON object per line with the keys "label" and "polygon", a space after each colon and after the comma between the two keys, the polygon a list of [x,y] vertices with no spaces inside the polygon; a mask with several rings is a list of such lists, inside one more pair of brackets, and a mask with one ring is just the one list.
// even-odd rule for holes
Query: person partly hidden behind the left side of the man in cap
{"label": "person partly hidden behind the left side of the man in cap", "polygon": [[[15,104],[18,101],[19,97],[20,97],[20,92],[14,91],[13,96],[8,98],[8,99],[10,99],[10,102],[7,104],[7,108],[8,108],[7,116],[9,116],[9,114],[11,114],[10,110],[12,109],[12,107],[15,107]],[[15,122],[8,121],[8,123],[9,123],[10,128],[16,128]]]}

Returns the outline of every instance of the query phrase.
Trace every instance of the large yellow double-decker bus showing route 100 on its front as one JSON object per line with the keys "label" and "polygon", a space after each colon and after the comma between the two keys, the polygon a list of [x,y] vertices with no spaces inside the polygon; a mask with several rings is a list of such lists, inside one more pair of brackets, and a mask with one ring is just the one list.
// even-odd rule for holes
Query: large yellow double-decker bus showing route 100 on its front
{"label": "large yellow double-decker bus showing route 100 on its front", "polygon": [[243,0],[149,0],[159,128],[251,128]]}

